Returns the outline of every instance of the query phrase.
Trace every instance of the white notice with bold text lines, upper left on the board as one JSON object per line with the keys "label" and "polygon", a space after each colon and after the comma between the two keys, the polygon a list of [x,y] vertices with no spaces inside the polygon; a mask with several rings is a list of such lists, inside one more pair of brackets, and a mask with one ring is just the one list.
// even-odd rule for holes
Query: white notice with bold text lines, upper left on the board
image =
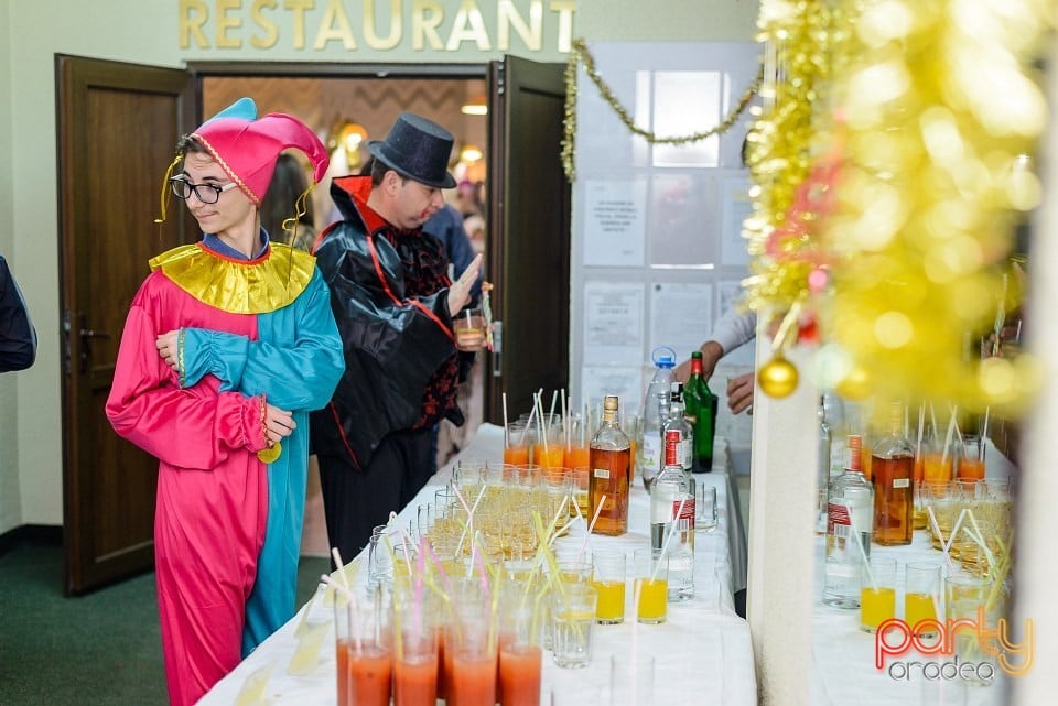
{"label": "white notice with bold text lines, upper left on the board", "polygon": [[584,264],[641,265],[647,240],[646,203],[646,180],[585,182]]}

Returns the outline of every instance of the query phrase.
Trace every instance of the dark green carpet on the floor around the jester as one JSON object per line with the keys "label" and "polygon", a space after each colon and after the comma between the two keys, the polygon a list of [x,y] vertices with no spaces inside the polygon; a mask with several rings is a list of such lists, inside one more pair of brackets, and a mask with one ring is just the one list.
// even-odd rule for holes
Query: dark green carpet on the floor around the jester
{"label": "dark green carpet on the floor around the jester", "polygon": [[[298,605],[330,560],[301,561]],[[0,555],[0,704],[164,706],[154,574],[63,596],[63,548],[23,540]]]}

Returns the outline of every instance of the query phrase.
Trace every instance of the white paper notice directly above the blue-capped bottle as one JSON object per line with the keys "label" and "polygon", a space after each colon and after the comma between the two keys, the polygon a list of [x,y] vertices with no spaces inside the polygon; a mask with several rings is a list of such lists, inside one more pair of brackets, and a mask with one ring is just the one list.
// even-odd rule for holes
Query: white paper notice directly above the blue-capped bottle
{"label": "white paper notice directly above the blue-capped bottle", "polygon": [[650,345],[691,357],[713,328],[713,285],[656,282],[650,285]]}

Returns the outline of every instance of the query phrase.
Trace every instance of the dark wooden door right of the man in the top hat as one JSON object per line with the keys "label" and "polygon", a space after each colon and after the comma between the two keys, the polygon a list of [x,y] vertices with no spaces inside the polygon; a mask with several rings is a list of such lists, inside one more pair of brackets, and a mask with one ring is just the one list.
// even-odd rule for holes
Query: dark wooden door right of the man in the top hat
{"label": "dark wooden door right of the man in the top hat", "polygon": [[489,67],[488,268],[498,355],[485,420],[514,419],[570,381],[570,183],[562,170],[563,64],[507,56]]}

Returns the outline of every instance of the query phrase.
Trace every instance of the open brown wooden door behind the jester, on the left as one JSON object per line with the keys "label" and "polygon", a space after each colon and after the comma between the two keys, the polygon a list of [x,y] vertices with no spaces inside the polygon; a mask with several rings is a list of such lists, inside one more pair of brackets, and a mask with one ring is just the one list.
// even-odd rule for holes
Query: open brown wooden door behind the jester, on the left
{"label": "open brown wooden door behind the jester, on the left", "polygon": [[76,594],[153,568],[158,461],[115,434],[104,405],[148,260],[194,232],[183,208],[154,219],[195,106],[183,70],[56,61],[65,588]]}

